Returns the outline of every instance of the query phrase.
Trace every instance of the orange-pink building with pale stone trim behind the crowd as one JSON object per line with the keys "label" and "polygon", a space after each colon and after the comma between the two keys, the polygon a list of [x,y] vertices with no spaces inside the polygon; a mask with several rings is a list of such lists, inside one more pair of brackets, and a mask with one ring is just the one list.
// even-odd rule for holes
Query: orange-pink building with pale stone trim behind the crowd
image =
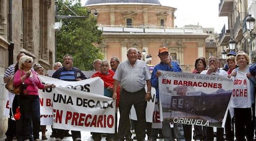
{"label": "orange-pink building with pale stone trim behind the crowd", "polygon": [[126,50],[135,47],[146,51],[144,58],[151,55],[148,63],[156,65],[160,62],[158,48],[166,46],[182,70],[191,72],[196,58],[205,57],[209,34],[203,32],[202,26],[174,27],[176,8],[161,6],[158,0],[88,0],[85,8],[98,12],[98,29],[103,31],[104,39],[96,46],[105,60],[116,56],[124,61]]}

